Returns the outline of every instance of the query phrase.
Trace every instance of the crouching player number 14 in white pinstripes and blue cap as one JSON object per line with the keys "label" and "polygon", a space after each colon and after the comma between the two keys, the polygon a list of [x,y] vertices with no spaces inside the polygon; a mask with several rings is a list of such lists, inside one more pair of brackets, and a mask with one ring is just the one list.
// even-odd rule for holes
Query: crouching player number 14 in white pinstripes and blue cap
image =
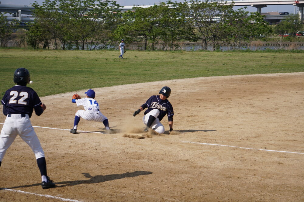
{"label": "crouching player number 14 in white pinstripes and blue cap", "polygon": [[102,122],[103,125],[105,125],[107,132],[111,133],[108,118],[99,111],[99,104],[96,100],[94,100],[95,91],[89,89],[87,92],[85,92],[85,94],[86,98],[72,99],[73,103],[76,103],[77,106],[82,105],[85,110],[80,109],[76,112],[74,127],[70,130],[70,132],[76,134],[77,126],[81,117],[88,121]]}

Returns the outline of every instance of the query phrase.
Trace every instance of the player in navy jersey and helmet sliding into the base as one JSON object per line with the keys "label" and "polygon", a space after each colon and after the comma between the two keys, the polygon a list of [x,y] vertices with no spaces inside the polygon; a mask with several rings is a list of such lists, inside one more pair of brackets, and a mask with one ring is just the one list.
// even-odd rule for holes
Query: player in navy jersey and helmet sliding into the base
{"label": "player in navy jersey and helmet sliding into the base", "polygon": [[136,116],[145,108],[148,108],[143,116],[143,123],[147,126],[144,132],[148,131],[148,128],[152,128],[156,132],[163,134],[165,132],[164,125],[161,124],[161,120],[167,114],[170,132],[173,130],[173,107],[168,101],[171,94],[171,89],[168,86],[162,87],[159,91],[160,95],[151,96],[145,104],[141,105],[140,108],[133,113]]}

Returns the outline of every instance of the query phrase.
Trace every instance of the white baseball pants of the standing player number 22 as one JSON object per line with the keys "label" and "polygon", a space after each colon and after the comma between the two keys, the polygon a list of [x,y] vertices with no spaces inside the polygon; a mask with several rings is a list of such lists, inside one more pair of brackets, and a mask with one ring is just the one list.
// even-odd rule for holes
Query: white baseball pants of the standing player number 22
{"label": "white baseball pants of the standing player number 22", "polygon": [[14,142],[17,135],[26,142],[33,150],[36,159],[44,157],[43,149],[34,128],[29,119],[29,115],[21,117],[21,114],[12,114],[6,117],[0,134],[0,161],[2,161],[6,150]]}

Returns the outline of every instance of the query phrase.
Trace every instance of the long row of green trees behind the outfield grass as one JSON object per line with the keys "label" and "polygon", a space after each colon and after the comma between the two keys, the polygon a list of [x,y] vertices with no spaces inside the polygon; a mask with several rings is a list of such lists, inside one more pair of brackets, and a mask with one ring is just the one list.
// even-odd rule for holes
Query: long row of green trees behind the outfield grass
{"label": "long row of green trees behind the outfield grass", "polygon": [[[32,6],[36,18],[26,41],[33,48],[47,48],[52,40],[55,49],[74,46],[84,50],[85,43],[92,44],[91,49],[97,44],[102,49],[125,39],[127,43],[143,42],[144,50],[155,50],[156,45],[161,50],[175,50],[180,40],[201,42],[203,49],[211,43],[216,50],[222,42],[240,48],[244,41],[250,43],[272,32],[295,34],[303,28],[297,15],[272,28],[258,12],[233,9],[233,4],[222,0],[168,1],[148,8],[134,6],[133,11],[126,12],[110,0],[46,0]],[[1,29],[0,21],[0,40]]]}

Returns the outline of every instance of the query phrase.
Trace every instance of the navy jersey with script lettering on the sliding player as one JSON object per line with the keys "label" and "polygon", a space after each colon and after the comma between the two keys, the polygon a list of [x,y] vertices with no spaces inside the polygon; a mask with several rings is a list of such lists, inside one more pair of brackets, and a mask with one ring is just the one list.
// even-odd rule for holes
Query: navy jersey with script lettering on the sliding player
{"label": "navy jersey with script lettering on the sliding player", "polygon": [[159,95],[152,95],[145,104],[141,105],[143,109],[147,108],[148,109],[145,111],[145,115],[149,113],[153,109],[158,109],[159,110],[159,115],[158,119],[161,121],[161,119],[164,118],[164,116],[167,114],[168,115],[168,121],[173,120],[173,107],[171,103],[166,99],[162,100]]}

